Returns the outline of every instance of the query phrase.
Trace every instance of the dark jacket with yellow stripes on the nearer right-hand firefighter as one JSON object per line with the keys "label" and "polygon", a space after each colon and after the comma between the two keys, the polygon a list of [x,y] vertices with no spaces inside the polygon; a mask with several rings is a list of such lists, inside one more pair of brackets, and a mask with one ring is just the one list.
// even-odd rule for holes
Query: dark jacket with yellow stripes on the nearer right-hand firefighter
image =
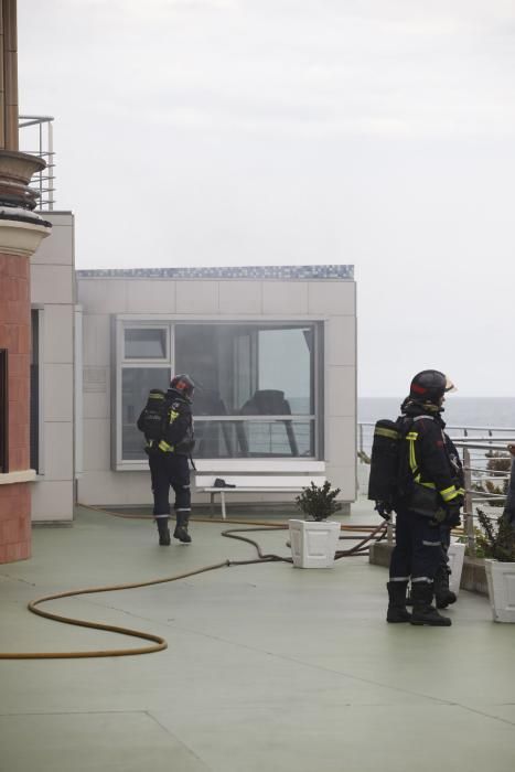
{"label": "dark jacket with yellow stripes on the nearer right-hand firefighter", "polygon": [[408,401],[403,407],[406,467],[416,483],[436,489],[443,505],[461,505],[464,478],[458,451],[444,432],[440,411]]}

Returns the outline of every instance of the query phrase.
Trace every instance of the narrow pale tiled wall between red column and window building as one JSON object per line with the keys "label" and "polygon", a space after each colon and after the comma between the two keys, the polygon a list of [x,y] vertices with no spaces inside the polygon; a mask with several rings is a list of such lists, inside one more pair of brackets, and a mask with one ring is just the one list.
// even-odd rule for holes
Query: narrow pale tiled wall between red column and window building
{"label": "narrow pale tiled wall between red column and window building", "polygon": [[74,503],[74,216],[45,212],[53,227],[31,260],[40,313],[40,470],[33,522],[68,522]]}

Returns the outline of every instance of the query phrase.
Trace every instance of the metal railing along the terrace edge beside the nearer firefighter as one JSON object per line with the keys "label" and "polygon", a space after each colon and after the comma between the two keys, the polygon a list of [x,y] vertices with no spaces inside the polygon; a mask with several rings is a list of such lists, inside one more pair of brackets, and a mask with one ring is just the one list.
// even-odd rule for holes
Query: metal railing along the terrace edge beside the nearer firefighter
{"label": "metal railing along the terrace edge beside the nearer firefighter", "polygon": [[[357,425],[358,464],[369,464],[374,426],[367,421]],[[446,431],[461,453],[463,463],[463,533],[468,554],[473,557],[476,554],[474,507],[481,503],[485,514],[496,518],[506,502],[512,463],[507,446],[515,444],[515,427],[448,426]],[[495,469],[500,460],[506,460],[505,470]],[[391,526],[388,527],[388,542],[393,542]]]}

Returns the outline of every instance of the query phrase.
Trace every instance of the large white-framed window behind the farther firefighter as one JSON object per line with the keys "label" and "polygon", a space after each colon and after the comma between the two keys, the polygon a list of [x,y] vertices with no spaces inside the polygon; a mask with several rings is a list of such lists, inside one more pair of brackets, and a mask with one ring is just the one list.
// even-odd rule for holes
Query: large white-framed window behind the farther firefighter
{"label": "large white-framed window behind the farther firefighter", "polygon": [[319,329],[119,323],[118,463],[146,459],[136,420],[173,373],[195,382],[196,458],[318,458]]}

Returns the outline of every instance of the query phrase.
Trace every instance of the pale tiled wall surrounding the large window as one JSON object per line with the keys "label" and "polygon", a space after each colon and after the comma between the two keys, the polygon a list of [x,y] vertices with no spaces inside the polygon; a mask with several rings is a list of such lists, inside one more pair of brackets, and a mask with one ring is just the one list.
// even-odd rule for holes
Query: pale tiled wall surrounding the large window
{"label": "pale tiled wall surrounding the large window", "polygon": [[[138,505],[151,502],[148,472],[112,471],[111,315],[193,321],[322,321],[324,324],[325,474],[356,495],[356,303],[355,283],[342,280],[168,279],[78,276],[83,308],[84,453],[78,501],[84,504]],[[240,460],[238,463],[245,463]],[[207,471],[205,461],[196,462]],[[223,460],[219,462],[223,464]],[[270,462],[272,463],[272,462]],[[223,467],[217,468],[223,476]],[[194,480],[194,475],[193,475]],[[248,501],[248,495],[242,500]],[[253,494],[253,501],[277,494]],[[292,496],[285,496],[291,500]],[[205,501],[193,490],[194,501]],[[230,501],[237,501],[234,494]]]}

